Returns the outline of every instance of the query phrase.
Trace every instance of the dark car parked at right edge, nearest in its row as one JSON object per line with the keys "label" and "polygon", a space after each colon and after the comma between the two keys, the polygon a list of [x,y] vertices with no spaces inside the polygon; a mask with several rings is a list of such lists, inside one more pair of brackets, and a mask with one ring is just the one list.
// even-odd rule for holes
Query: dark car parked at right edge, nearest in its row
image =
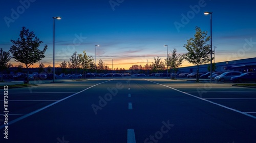
{"label": "dark car parked at right edge, nearest in its row", "polygon": [[233,82],[256,82],[256,73],[244,73],[240,76],[231,77],[230,80]]}

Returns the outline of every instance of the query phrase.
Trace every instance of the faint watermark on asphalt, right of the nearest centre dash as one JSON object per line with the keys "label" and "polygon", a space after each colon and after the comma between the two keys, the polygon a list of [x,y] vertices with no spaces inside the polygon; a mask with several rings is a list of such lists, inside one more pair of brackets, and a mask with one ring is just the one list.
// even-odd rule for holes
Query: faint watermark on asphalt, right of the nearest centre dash
{"label": "faint watermark on asphalt, right of the nearest centre dash", "polygon": [[162,121],[163,126],[160,128],[160,131],[155,132],[154,135],[150,135],[150,137],[146,138],[144,140],[144,143],[154,143],[158,142],[160,139],[163,138],[163,134],[166,134],[169,132],[171,127],[174,126],[174,124],[170,124],[169,120],[166,122]]}

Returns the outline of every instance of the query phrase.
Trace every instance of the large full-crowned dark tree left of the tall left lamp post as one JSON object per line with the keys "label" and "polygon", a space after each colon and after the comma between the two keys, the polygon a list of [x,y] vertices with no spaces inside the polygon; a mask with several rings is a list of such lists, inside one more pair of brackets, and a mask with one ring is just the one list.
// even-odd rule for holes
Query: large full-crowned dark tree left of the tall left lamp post
{"label": "large full-crowned dark tree left of the tall left lamp post", "polygon": [[[25,64],[28,77],[29,66],[45,57],[47,45],[45,45],[44,49],[40,51],[38,47],[43,42],[40,41],[37,36],[35,36],[33,31],[29,32],[29,29],[26,29],[25,27],[23,27],[22,31],[20,31],[19,36],[20,38],[18,38],[16,41],[11,40],[13,45],[10,48],[10,52],[16,61]],[[28,78],[27,83],[29,83]]]}

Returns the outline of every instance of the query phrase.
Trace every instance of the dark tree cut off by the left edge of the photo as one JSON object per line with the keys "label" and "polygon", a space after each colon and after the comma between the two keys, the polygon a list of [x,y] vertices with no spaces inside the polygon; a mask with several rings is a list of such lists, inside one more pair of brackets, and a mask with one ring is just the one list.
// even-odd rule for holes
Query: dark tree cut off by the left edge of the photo
{"label": "dark tree cut off by the left edge of the photo", "polygon": [[11,60],[10,52],[4,51],[2,48],[0,49],[0,71],[2,72],[2,81],[4,81],[4,70],[10,67],[10,63],[8,62]]}

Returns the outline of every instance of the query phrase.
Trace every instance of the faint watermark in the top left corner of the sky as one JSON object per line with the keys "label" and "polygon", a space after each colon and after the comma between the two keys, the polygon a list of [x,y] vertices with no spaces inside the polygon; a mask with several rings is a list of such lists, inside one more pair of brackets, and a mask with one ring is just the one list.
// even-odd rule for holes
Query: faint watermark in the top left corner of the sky
{"label": "faint watermark in the top left corner of the sky", "polygon": [[15,20],[17,20],[20,16],[20,14],[23,14],[25,12],[26,9],[28,9],[31,6],[31,3],[34,3],[36,0],[20,0],[19,3],[21,5],[19,5],[16,9],[11,9],[11,16],[4,17],[5,23],[7,25],[7,27],[10,27],[10,23],[15,22]]}

